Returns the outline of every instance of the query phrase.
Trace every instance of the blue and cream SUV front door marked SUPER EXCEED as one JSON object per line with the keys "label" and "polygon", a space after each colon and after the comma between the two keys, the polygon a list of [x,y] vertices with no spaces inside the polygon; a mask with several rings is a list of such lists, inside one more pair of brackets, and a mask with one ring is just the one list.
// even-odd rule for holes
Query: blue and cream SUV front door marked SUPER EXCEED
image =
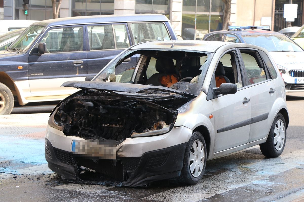
{"label": "blue and cream SUV front door marked SUPER EXCEED", "polygon": [[31,97],[68,95],[77,89],[60,87],[65,81],[84,81],[87,76],[87,52],[83,50],[84,26],[50,28],[38,43],[47,52],[33,48],[29,56],[28,77]]}

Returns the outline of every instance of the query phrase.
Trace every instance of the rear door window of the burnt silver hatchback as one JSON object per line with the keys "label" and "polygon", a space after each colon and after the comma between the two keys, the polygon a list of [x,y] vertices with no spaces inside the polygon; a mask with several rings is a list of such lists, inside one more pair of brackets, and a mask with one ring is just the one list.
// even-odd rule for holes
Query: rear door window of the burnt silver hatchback
{"label": "rear door window of the burnt silver hatchback", "polygon": [[259,61],[257,51],[240,50],[249,85],[266,81],[266,74],[263,65]]}

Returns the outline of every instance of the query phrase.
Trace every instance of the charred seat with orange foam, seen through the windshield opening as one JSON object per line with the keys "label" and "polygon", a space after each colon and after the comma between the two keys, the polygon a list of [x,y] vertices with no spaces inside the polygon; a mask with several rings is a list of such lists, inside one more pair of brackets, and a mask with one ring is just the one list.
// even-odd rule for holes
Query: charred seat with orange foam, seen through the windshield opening
{"label": "charred seat with orange foam, seen through the windshield opening", "polygon": [[157,58],[155,69],[158,71],[158,73],[150,76],[150,78],[147,79],[146,84],[170,87],[172,84],[178,81],[172,59],[162,57]]}

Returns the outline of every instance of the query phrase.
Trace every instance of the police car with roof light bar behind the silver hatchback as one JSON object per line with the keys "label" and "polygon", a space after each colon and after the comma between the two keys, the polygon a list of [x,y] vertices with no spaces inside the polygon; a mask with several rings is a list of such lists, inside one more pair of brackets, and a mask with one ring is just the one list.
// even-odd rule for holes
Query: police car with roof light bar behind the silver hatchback
{"label": "police car with roof light bar behind the silver hatchback", "polygon": [[286,35],[270,31],[269,26],[229,26],[228,30],[206,34],[203,40],[247,43],[267,49],[282,73],[286,92],[304,92],[303,49]]}

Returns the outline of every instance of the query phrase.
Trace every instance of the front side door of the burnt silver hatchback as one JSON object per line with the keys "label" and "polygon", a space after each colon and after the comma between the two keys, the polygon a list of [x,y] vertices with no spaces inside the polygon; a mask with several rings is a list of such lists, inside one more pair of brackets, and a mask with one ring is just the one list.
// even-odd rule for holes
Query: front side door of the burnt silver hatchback
{"label": "front side door of the burnt silver hatchback", "polygon": [[[250,132],[250,94],[243,84],[244,74],[240,68],[242,63],[237,51],[225,53],[218,61],[217,68],[220,68],[220,63],[223,64],[225,70],[223,76],[228,79],[228,82],[237,85],[237,92],[213,95],[215,153],[246,144]],[[229,69],[233,73],[225,74]],[[216,87],[216,79],[214,75],[211,82],[212,88]]]}

